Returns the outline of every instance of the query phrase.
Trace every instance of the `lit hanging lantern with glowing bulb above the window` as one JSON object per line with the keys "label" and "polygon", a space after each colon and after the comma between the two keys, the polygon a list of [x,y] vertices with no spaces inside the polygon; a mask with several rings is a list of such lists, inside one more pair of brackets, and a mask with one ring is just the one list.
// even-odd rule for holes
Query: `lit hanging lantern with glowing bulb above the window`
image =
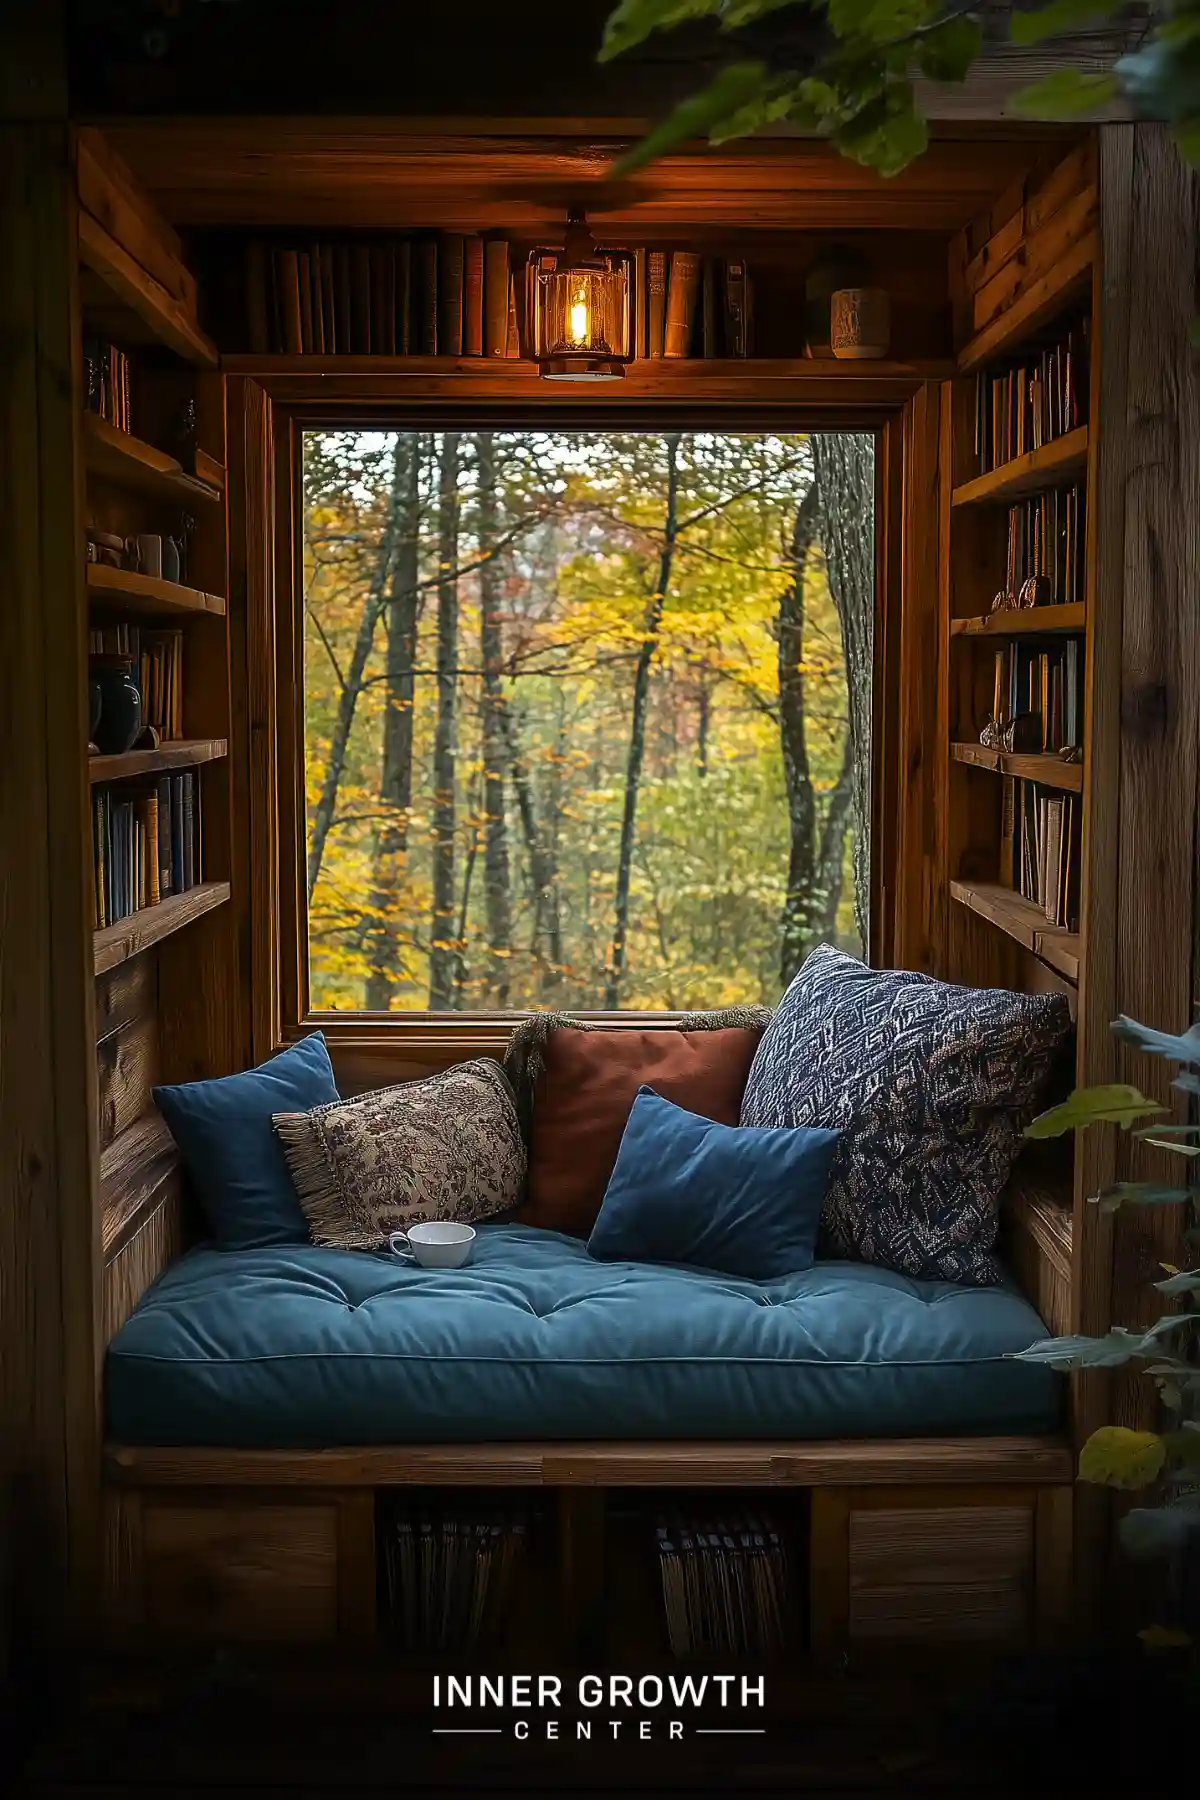
{"label": "lit hanging lantern with glowing bulb above the window", "polygon": [[630,362],[630,257],[601,252],[583,214],[561,250],[529,256],[533,353],[549,382],[615,382]]}

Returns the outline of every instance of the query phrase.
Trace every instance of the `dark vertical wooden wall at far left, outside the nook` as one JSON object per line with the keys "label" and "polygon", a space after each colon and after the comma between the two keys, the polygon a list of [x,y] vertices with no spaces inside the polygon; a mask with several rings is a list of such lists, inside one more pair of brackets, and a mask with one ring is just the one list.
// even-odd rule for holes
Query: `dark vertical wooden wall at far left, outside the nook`
{"label": "dark vertical wooden wall at far left, outside the nook", "polygon": [[[0,22],[5,101],[49,103],[18,14]],[[68,1568],[86,1613],[101,1537],[72,230],[65,124],[0,124],[0,1525],[13,1499],[29,1636],[65,1625]]]}

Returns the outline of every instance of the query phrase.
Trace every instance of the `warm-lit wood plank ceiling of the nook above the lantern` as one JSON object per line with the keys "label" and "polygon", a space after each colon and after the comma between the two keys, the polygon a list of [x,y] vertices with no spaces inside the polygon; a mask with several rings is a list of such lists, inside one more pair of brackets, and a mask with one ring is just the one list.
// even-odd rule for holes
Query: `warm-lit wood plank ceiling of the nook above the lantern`
{"label": "warm-lit wood plank ceiling of the nook above the lantern", "polygon": [[628,137],[417,121],[108,121],[104,135],[176,225],[504,229],[569,202],[613,229],[950,232],[1038,160],[1034,137],[936,140],[883,180],[828,144],[763,139],[666,157],[604,184]]}

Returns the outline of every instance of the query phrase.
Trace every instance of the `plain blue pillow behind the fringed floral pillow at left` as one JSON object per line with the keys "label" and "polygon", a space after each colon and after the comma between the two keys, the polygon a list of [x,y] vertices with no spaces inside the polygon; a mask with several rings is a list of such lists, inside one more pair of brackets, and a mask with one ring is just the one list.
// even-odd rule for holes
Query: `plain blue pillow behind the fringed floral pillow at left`
{"label": "plain blue pillow behind the fringed floral pillow at left", "polygon": [[155,1087],[212,1238],[221,1249],[308,1244],[272,1112],[340,1100],[320,1031],[245,1075]]}

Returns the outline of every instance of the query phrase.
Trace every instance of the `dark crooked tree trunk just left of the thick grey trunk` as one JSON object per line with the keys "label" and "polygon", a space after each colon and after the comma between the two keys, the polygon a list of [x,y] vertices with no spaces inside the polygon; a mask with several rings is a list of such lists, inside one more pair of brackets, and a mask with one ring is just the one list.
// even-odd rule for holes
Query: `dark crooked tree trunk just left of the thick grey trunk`
{"label": "dark crooked tree trunk just left of the thick grey trunk", "polygon": [[779,596],[777,617],[779,747],[788,803],[788,889],[783,900],[779,934],[779,983],[784,988],[808,950],[817,875],[813,868],[817,801],[808,767],[804,716],[804,572],[817,535],[817,482],[813,481],[795,509],[792,585]]}

